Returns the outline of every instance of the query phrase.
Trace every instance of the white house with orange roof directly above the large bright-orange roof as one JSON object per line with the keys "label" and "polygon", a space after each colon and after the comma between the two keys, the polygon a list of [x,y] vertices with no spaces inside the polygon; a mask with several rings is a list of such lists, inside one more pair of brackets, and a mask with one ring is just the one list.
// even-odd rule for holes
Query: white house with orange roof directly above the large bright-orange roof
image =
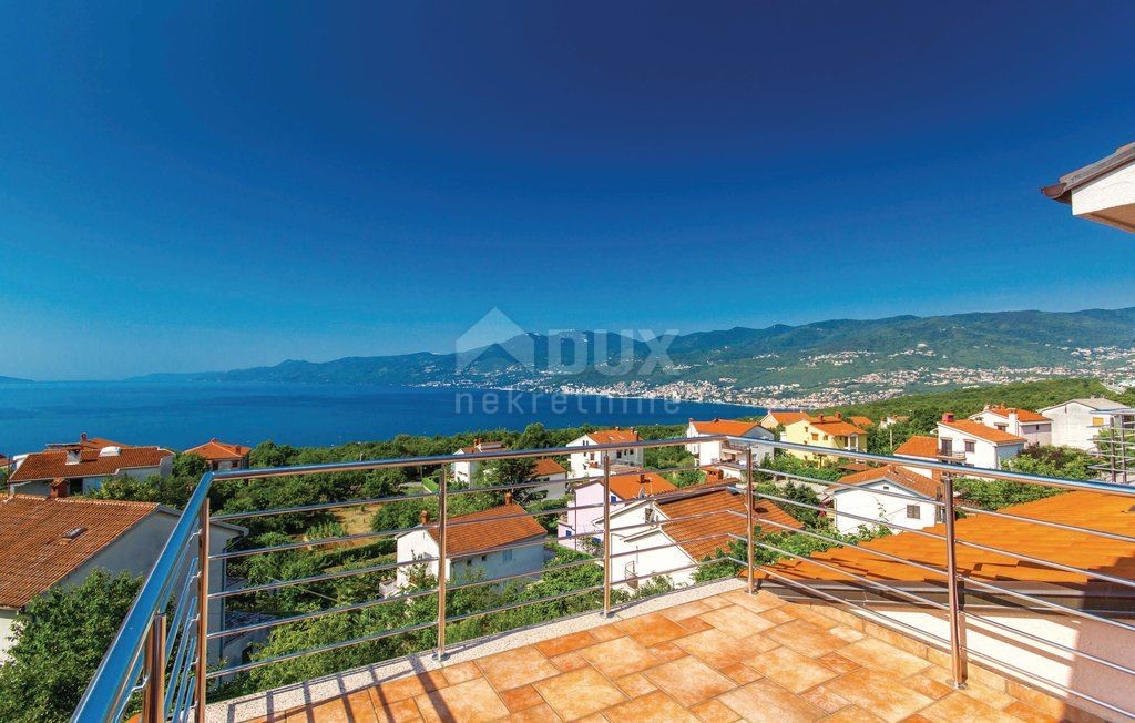
{"label": "white house with orange roof directly above the large bright-orange roof", "polygon": [[[835,529],[842,533],[871,526],[857,518],[916,530],[931,527],[942,519],[940,508],[934,504],[940,498],[941,486],[897,464],[848,474],[840,478],[840,482],[855,487],[833,485],[825,490],[824,502],[832,506]],[[905,495],[906,498],[896,495]]]}

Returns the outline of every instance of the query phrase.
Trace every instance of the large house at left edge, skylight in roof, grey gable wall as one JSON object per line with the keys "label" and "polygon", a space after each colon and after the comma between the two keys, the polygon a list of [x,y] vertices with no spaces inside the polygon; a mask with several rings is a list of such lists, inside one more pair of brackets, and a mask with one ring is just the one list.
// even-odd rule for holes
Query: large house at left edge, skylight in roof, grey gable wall
{"label": "large house at left edge, skylight in roof, grey gable wall", "polygon": [[[11,646],[16,615],[35,596],[81,585],[99,569],[145,574],[178,518],[177,510],[146,502],[34,495],[0,499],[0,549],[6,561],[0,565],[0,661]],[[210,531],[215,549],[224,549],[244,531],[215,522]],[[225,561],[210,563],[209,580],[210,590],[221,589]],[[221,629],[224,609],[210,605],[210,630]],[[220,659],[217,640],[210,644],[209,659]]]}

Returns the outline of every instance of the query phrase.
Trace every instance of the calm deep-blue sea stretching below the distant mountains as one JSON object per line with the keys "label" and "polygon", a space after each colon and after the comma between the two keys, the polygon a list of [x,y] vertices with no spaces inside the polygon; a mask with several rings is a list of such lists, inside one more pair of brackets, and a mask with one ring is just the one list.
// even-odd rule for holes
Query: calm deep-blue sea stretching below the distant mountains
{"label": "calm deep-blue sea stretching below the distant mountains", "polygon": [[255,445],[330,445],[398,434],[681,423],[764,413],[753,406],[532,395],[477,389],[209,382],[0,384],[0,453],[33,452],[79,432],[184,449],[217,437]]}

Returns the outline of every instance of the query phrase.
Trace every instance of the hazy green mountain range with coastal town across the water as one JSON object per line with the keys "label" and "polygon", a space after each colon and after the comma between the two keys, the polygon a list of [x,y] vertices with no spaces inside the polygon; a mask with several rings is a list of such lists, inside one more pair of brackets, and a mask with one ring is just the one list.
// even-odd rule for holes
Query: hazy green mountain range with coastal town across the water
{"label": "hazy green mountain range with coastal town across the water", "polygon": [[[651,348],[664,350],[664,360]],[[528,334],[462,354],[289,360],[136,380],[462,386],[823,405],[1061,376],[1135,384],[1135,308],[737,327],[669,344],[590,331],[572,338]]]}

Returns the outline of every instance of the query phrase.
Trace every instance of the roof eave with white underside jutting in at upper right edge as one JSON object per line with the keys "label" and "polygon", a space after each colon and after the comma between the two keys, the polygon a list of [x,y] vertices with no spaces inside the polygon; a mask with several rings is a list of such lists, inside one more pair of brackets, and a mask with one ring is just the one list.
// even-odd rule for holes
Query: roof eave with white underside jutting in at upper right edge
{"label": "roof eave with white underside jutting in at upper right edge", "polygon": [[1073,216],[1135,233],[1135,143],[1061,176],[1041,192],[1070,205]]}

